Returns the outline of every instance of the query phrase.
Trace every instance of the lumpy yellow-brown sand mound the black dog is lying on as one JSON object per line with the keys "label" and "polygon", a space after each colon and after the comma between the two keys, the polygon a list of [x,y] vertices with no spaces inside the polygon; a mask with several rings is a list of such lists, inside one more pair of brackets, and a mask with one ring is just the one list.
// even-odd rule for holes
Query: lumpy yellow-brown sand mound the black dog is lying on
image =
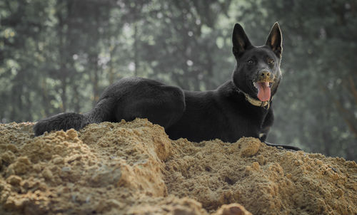
{"label": "lumpy yellow-brown sand mound the black dog is lying on", "polygon": [[32,126],[0,125],[0,214],[357,213],[357,164],[342,158],[172,141],[147,120]]}

